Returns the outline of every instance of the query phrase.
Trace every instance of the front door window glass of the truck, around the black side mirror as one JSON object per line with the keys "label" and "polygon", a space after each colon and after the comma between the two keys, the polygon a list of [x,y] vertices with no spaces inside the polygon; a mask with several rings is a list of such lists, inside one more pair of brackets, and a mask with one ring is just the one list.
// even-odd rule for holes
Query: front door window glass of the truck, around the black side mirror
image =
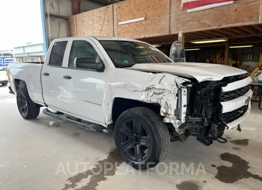
{"label": "front door window glass of the truck, around the black side mirror", "polygon": [[94,57],[97,62],[101,60],[98,53],[95,51],[95,48],[89,42],[84,40],[73,41],[69,55],[69,68],[75,68],[74,60],[78,57]]}

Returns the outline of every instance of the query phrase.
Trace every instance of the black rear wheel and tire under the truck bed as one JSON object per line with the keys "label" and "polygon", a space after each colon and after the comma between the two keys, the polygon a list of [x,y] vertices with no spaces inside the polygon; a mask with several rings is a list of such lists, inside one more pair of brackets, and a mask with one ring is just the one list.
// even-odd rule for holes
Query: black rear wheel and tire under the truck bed
{"label": "black rear wheel and tire under the truck bed", "polygon": [[34,119],[39,115],[40,107],[34,107],[26,87],[17,91],[16,102],[19,113],[24,119]]}

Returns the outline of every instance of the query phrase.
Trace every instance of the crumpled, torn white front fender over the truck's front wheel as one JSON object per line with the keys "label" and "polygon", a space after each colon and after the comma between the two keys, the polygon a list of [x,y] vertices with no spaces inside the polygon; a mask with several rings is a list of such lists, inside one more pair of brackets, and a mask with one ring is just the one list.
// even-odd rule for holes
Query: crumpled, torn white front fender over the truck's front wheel
{"label": "crumpled, torn white front fender over the truck's front wheel", "polygon": [[[129,72],[132,72],[133,76],[130,77],[127,75],[127,73],[125,73],[126,76],[124,78],[129,79],[128,81],[123,83],[106,83],[106,124],[112,123],[111,112],[114,98],[121,97],[144,101],[147,103],[157,103],[161,107],[160,114],[165,117],[165,122],[176,123],[176,125],[179,126],[180,115],[176,114],[177,112],[175,112],[178,100],[177,94],[178,90],[183,87],[181,84],[190,80],[164,73],[153,74],[140,71],[134,72],[131,70]],[[119,76],[118,81],[119,78],[122,77]]]}

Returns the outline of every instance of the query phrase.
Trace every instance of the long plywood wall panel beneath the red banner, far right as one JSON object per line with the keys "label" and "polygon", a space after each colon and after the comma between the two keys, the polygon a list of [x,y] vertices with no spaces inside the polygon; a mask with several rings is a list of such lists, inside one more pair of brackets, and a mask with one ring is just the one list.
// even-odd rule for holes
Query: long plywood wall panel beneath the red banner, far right
{"label": "long plywood wall panel beneath the red banner, far right", "polygon": [[231,5],[210,8],[191,13],[182,13],[181,1],[170,0],[170,31],[189,30],[198,31],[199,28],[226,24],[244,23],[259,20],[260,1],[234,2]]}

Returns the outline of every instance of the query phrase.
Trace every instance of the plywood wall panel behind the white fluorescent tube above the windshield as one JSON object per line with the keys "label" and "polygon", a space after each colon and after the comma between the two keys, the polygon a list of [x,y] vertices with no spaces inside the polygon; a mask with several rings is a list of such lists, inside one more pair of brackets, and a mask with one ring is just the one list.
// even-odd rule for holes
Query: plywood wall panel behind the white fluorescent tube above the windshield
{"label": "plywood wall panel behind the white fluorescent tube above the windshield", "polygon": [[[114,17],[115,20],[118,19],[118,22],[140,17],[146,17],[147,19],[123,25],[118,25],[118,22],[115,22],[115,36],[117,36],[117,29],[119,37],[133,37],[166,32],[167,18],[164,16],[167,16],[166,0],[126,0],[116,3],[114,4]],[[152,17],[154,18],[151,19]]]}

